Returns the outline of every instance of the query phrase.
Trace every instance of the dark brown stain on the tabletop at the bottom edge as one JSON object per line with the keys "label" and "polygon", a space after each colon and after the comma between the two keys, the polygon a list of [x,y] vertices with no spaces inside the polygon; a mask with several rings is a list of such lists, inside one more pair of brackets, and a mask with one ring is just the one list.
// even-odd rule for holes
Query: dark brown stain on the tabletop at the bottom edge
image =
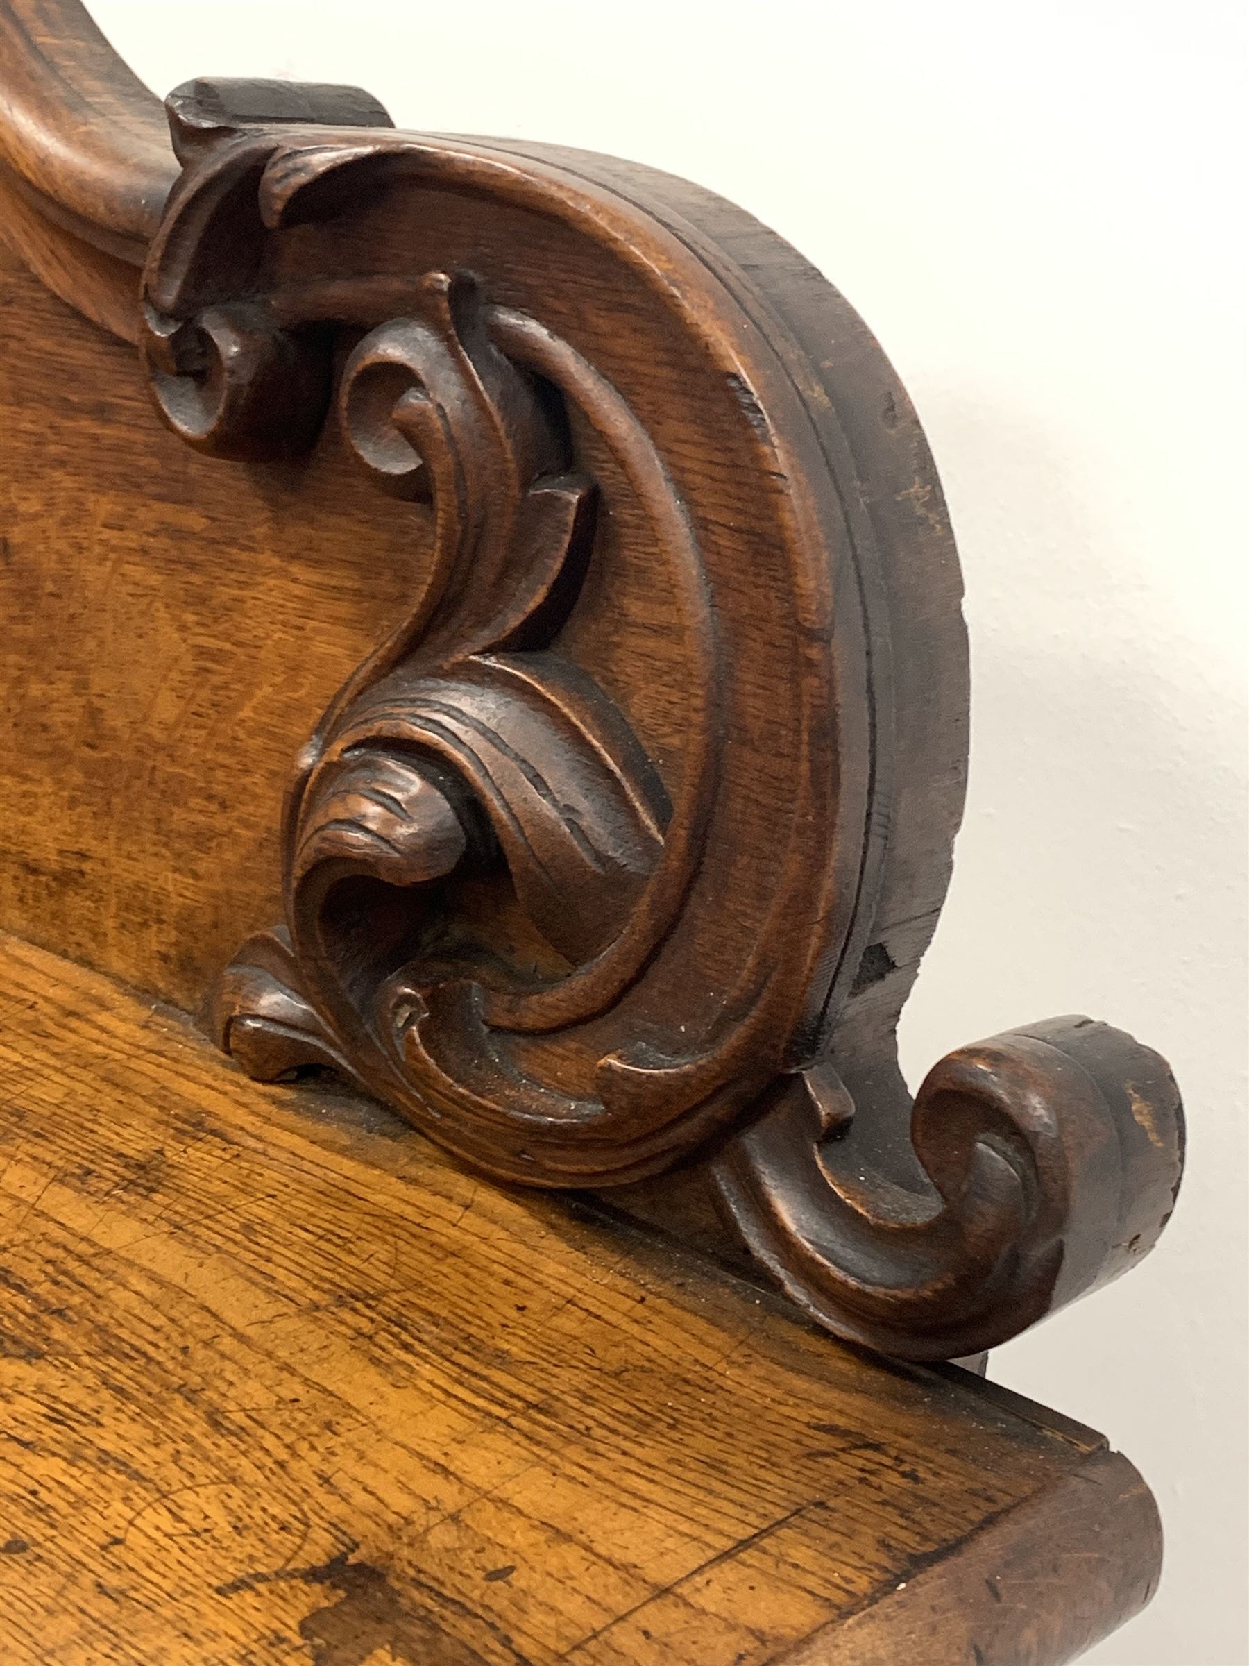
{"label": "dark brown stain on the tabletop at the bottom edge", "polygon": [[[383,1568],[351,1561],[356,1546],[313,1568],[280,1568],[245,1573],[216,1586],[218,1596],[236,1596],[263,1584],[326,1586],[338,1601],[315,1608],[300,1621],[300,1636],[313,1666],[365,1666],[380,1649],[401,1666],[486,1666],[463,1638],[443,1629],[436,1604],[420,1591],[400,1591]],[[451,1604],[456,1611],[461,1604]],[[490,1628],[493,1629],[493,1628]],[[520,1656],[518,1656],[520,1659]]]}

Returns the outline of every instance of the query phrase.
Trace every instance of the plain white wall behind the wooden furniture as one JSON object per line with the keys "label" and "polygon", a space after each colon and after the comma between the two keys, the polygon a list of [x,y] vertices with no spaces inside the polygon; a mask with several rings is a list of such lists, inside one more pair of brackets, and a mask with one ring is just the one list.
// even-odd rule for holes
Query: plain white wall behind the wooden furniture
{"label": "plain white wall behind the wooden furniture", "polygon": [[908,1068],[1082,1010],[1167,1053],[1191,1120],[1154,1258],[991,1373],[1104,1429],[1157,1494],[1161,1593],[1089,1659],[1249,1666],[1242,7],[90,7],[162,93],[358,82],[400,127],[684,173],[879,335],[944,476],[974,673],[968,818]]}

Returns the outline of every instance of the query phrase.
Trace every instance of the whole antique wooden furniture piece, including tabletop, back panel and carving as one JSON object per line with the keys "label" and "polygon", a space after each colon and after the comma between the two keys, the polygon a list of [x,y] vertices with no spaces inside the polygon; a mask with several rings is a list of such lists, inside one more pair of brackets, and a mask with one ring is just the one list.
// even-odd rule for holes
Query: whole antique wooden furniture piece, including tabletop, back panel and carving
{"label": "whole antique wooden furniture piece, including tabletop, back panel and carving", "polygon": [[[68,956],[0,945],[3,1646],[1071,1659],[1156,1583],[1131,1464],[761,1279],[966,1356],[1179,1175],[1089,1020],[898,1071],[968,688],[873,337],[684,182],[162,112],[75,0],[0,82],[3,237],[120,338],[0,253],[0,926]],[[210,980],[435,1145],[153,1011]]]}

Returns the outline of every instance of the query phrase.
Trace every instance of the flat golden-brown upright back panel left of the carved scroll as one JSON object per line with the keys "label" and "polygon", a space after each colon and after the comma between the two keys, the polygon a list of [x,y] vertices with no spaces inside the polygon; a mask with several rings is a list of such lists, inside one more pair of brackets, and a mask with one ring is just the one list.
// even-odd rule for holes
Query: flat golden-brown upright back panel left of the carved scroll
{"label": "flat golden-brown upright back panel left of the carved scroll", "polygon": [[0,925],[197,1010],[276,918],[290,760],[425,530],[335,433],[308,465],[190,453],[3,243],[0,333]]}

